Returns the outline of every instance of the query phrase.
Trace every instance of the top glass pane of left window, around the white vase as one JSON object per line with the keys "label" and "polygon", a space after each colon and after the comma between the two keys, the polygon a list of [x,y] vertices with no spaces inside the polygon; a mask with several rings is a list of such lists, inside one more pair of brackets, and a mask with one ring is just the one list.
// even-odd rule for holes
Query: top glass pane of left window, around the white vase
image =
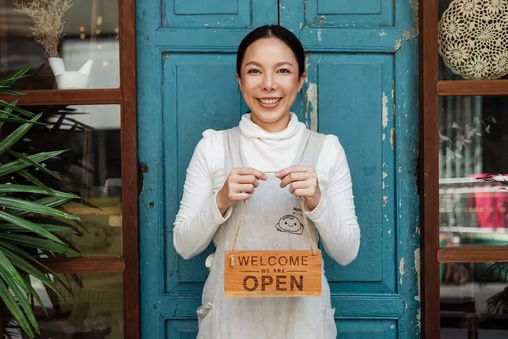
{"label": "top glass pane of left window, around the white vase", "polygon": [[[46,3],[50,5],[44,7],[45,13],[52,13],[66,2],[72,6],[63,13],[61,20],[53,15],[49,23],[39,20],[40,15],[36,20],[31,19],[25,12],[17,11],[15,5],[27,6],[29,11],[31,3]],[[117,0],[6,0],[4,4],[0,8],[0,65],[4,66],[0,75],[32,66],[30,73],[33,75],[17,81],[17,89],[119,87]],[[54,34],[59,28],[54,23],[58,21],[62,22],[61,38]],[[41,44],[30,36],[32,32],[41,31],[32,29],[36,22],[50,29],[58,43]],[[46,52],[46,47],[51,52]],[[63,60],[63,65],[59,65],[61,60],[57,57]]]}

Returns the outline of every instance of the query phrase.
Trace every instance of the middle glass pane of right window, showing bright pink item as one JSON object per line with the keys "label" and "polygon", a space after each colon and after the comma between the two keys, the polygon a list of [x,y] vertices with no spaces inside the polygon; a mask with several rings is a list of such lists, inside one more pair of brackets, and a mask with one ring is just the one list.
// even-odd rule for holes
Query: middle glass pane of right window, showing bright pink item
{"label": "middle glass pane of right window, showing bright pink item", "polygon": [[441,246],[508,245],[506,107],[508,97],[439,98]]}

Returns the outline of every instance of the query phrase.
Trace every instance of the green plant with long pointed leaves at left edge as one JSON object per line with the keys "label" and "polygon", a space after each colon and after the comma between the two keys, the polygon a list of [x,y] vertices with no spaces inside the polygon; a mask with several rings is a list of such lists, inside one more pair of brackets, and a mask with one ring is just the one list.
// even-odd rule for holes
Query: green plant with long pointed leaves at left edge
{"label": "green plant with long pointed leaves at left edge", "polygon": [[[25,77],[28,69],[25,67],[0,79],[0,95],[23,95],[11,87],[16,80]],[[38,292],[29,283],[28,276],[40,280],[62,299],[55,280],[71,292],[68,285],[44,266],[36,255],[40,252],[53,256],[81,255],[58,235],[78,231],[56,219],[79,220],[56,208],[78,196],[53,190],[30,172],[42,171],[59,178],[44,162],[60,156],[66,150],[35,154],[13,150],[13,145],[31,127],[45,125],[39,122],[41,115],[17,106],[17,100],[8,103],[0,99],[0,298],[29,337],[39,332],[30,297],[34,297],[45,312],[46,309]],[[6,130],[9,133],[4,133]]]}

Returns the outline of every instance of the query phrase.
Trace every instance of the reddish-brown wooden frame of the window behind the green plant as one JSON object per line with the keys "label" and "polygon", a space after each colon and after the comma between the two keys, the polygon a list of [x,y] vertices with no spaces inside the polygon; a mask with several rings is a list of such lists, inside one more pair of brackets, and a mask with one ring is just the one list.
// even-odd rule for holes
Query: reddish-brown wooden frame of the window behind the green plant
{"label": "reddish-brown wooden frame of the window behind the green plant", "polygon": [[[139,162],[136,103],[136,0],[117,0],[119,11],[120,87],[111,89],[28,90],[15,97],[19,105],[120,105],[122,178],[122,256],[46,260],[56,273],[123,273],[123,337],[140,338],[139,292]],[[0,0],[0,7],[5,0]],[[2,32],[0,32],[2,37]],[[3,96],[9,101],[14,97]],[[0,315],[1,316],[1,315]],[[1,317],[0,317],[1,318]],[[0,319],[0,337],[4,337]]]}

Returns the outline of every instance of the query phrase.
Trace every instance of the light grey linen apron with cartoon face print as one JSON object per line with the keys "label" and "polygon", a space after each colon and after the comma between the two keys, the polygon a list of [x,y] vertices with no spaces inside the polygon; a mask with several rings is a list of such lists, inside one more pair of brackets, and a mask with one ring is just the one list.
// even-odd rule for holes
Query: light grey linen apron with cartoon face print
{"label": "light grey linen apron with cartoon face print", "polygon": [[[226,172],[245,167],[240,152],[239,128],[228,130],[225,142]],[[294,164],[315,166],[324,136],[306,131]],[[268,173],[248,200],[237,237],[238,250],[308,250],[310,236],[317,243],[318,233],[308,220],[305,229],[300,200],[280,188],[280,179]],[[214,236],[216,255],[205,282],[199,307],[198,339],[332,339],[337,330],[330,289],[322,275],[322,295],[290,298],[227,298],[224,296],[224,252],[231,250],[241,202]]]}

